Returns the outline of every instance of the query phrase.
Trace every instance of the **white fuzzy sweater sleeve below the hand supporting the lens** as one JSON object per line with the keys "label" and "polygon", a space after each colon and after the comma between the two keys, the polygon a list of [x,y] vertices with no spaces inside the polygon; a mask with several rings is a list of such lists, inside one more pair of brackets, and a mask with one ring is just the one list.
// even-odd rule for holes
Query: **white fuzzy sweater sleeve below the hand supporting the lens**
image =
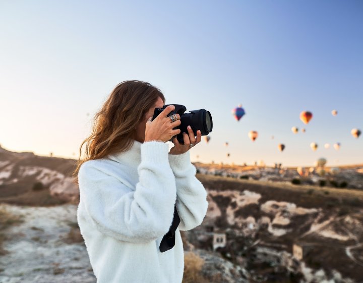
{"label": "white fuzzy sweater sleeve below the hand supporting the lens", "polygon": [[191,230],[203,222],[207,213],[207,192],[195,176],[197,169],[190,161],[189,151],[169,154],[169,164],[175,176],[178,227],[181,231]]}

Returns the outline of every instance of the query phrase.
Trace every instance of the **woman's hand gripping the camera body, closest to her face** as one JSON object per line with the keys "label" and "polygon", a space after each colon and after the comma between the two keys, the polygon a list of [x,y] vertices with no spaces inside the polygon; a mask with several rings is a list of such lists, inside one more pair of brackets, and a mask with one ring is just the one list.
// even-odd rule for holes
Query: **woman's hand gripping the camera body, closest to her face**
{"label": "woman's hand gripping the camera body, closest to her face", "polygon": [[167,106],[153,121],[152,116],[149,117],[145,127],[145,142],[151,140],[162,140],[164,143],[171,139],[174,135],[180,133],[180,129],[174,129],[181,124],[179,114],[177,120],[171,122],[171,118],[167,117],[171,111],[175,110],[174,105]]}

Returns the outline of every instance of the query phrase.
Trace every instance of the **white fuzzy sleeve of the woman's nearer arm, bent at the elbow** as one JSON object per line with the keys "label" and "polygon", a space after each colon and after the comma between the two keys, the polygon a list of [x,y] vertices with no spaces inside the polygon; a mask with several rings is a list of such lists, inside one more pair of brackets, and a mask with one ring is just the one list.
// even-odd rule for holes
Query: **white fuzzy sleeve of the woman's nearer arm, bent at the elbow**
{"label": "white fuzzy sleeve of the woman's nearer arm, bent at the elbow", "polygon": [[148,141],[141,145],[135,191],[119,178],[104,173],[104,165],[97,161],[83,163],[78,174],[80,201],[91,224],[110,237],[133,243],[150,242],[164,235],[171,225],[176,201],[167,144]]}

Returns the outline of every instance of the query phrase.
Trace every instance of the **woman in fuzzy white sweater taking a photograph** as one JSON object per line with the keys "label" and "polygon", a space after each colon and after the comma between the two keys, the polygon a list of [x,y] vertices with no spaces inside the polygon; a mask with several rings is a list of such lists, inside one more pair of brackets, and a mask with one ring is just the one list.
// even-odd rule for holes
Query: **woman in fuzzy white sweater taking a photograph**
{"label": "woman in fuzzy white sweater taking a photograph", "polygon": [[[154,120],[165,98],[147,82],[119,83],[96,114],[91,135],[82,143],[86,156],[77,164],[80,203],[78,224],[98,283],[180,283],[184,250],[179,230],[200,225],[207,193],[196,178],[189,150],[201,141],[192,129],[180,133],[180,116]],[[174,121],[175,120],[175,121]],[[160,242],[180,218],[175,244],[160,252]]]}

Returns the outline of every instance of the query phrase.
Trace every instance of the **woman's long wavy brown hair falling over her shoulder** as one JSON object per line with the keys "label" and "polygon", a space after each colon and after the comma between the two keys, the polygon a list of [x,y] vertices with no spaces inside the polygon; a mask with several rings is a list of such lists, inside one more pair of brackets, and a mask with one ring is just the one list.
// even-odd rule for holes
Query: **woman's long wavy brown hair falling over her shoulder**
{"label": "woman's long wavy brown hair falling over her shoulder", "polygon": [[[84,162],[129,150],[136,137],[137,125],[159,97],[165,103],[160,89],[148,82],[127,80],[117,84],[95,114],[91,135],[80,146],[73,181],[78,183],[76,178]],[[84,144],[86,152],[81,159]]]}

